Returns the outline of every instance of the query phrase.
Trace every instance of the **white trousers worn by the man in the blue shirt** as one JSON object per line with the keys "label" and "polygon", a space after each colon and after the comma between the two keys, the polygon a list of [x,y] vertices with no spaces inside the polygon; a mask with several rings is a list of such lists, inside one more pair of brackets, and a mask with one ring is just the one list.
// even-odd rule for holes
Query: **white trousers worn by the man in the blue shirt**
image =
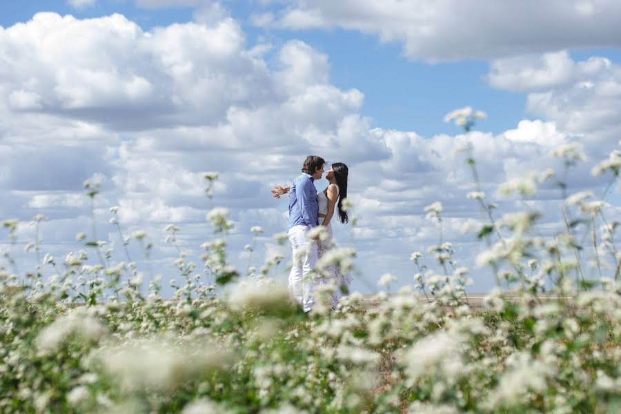
{"label": "white trousers worn by the man in the blue shirt", "polygon": [[313,298],[315,281],[311,271],[317,264],[317,242],[308,237],[308,226],[293,226],[288,231],[289,242],[293,248],[293,266],[289,273],[289,293],[302,305],[304,312],[315,306]]}

